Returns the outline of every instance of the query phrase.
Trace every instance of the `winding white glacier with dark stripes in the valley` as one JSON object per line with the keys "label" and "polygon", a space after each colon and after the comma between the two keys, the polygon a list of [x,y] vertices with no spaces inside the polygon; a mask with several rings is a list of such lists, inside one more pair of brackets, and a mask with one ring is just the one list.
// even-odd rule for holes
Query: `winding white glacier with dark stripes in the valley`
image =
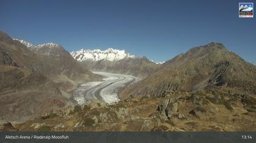
{"label": "winding white glacier with dark stripes in the valley", "polygon": [[129,75],[93,71],[94,74],[103,76],[102,81],[80,84],[73,91],[73,98],[79,105],[85,104],[93,98],[97,98],[108,104],[118,102],[118,93],[121,89],[140,81],[140,78]]}

